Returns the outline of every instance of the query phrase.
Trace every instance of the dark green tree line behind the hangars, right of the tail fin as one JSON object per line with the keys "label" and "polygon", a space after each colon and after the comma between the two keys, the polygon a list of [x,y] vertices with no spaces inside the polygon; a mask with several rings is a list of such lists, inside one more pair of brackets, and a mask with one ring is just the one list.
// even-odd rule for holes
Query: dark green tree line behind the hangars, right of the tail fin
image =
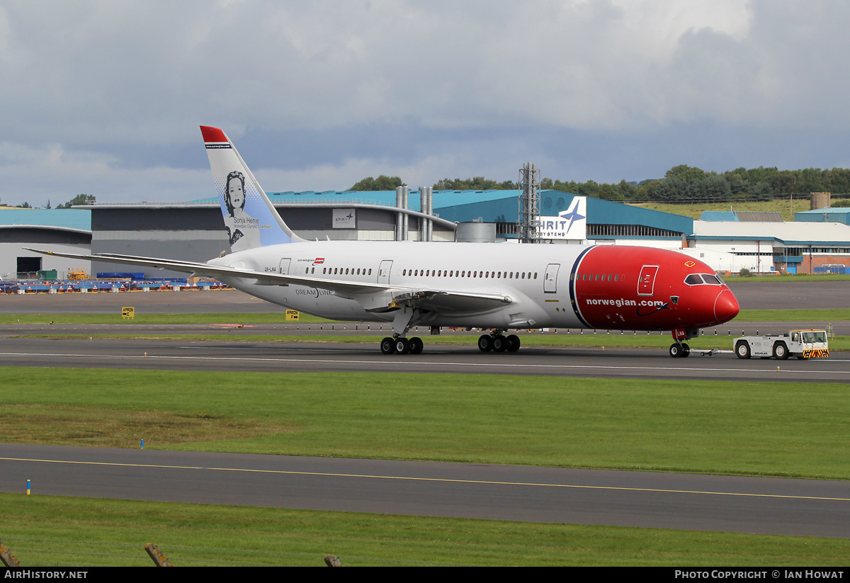
{"label": "dark green tree line behind the hangars, right of the tail fin", "polygon": [[[404,183],[398,176],[364,178],[348,190],[395,190]],[[483,176],[475,178],[443,178],[433,184],[434,190],[513,190],[518,184]],[[776,167],[736,168],[723,173],[706,172],[686,164],[672,167],[664,178],[599,184],[593,180],[576,182],[543,178],[543,190],[563,190],[576,195],[592,196],[606,201],[623,202],[728,202],[768,201],[791,195],[808,196],[812,192],[831,192],[850,197],[850,169],[804,168],[779,170]]]}

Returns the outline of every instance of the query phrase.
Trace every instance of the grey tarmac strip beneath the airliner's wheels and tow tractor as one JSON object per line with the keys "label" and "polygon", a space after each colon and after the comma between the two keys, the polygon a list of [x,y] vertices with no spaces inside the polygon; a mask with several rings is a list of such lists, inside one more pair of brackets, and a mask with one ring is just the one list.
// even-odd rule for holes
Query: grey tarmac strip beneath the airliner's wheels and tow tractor
{"label": "grey tarmac strip beneath the airliner's wheels and tow tractor", "polygon": [[[672,359],[666,349],[539,348],[483,354],[475,345],[429,345],[384,355],[375,342],[191,342],[146,338],[0,339],[0,365],[156,371],[473,373],[683,381],[850,382],[850,354],[829,359],[748,359],[734,354]],[[309,337],[307,337],[309,339]],[[730,342],[731,344],[731,342]],[[731,348],[731,347],[730,347]]]}

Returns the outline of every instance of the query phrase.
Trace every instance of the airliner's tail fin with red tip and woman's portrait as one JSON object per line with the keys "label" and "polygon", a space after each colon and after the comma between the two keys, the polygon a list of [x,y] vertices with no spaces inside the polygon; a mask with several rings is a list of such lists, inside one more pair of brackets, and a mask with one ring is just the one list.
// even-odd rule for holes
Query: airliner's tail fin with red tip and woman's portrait
{"label": "airliner's tail fin with red tip and woman's portrait", "polygon": [[303,241],[292,232],[233,143],[218,127],[201,126],[231,251]]}

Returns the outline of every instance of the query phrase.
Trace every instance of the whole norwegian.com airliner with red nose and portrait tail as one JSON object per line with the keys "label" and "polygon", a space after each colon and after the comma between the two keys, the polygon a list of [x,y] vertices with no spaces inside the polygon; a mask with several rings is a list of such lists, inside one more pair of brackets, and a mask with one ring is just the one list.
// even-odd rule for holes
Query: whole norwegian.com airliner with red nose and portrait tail
{"label": "whole norwegian.com airliner with red nose and portrait tail", "polygon": [[672,331],[684,341],[739,311],[706,263],[635,246],[305,241],[286,226],[224,132],[201,127],[230,250],[207,263],[112,253],[68,258],[172,269],[331,320],[392,322],[384,354],[419,354],[414,325],[481,328],[484,352],[516,352],[508,330]]}

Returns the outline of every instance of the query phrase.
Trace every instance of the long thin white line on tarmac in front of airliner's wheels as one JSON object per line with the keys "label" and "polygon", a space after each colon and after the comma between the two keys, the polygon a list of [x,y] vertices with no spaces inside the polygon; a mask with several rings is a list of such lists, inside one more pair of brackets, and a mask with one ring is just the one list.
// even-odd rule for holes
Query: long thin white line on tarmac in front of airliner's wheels
{"label": "long thin white line on tarmac in front of airliner's wheels", "polygon": [[[581,369],[581,370],[597,370],[604,369],[606,371],[677,371],[683,373],[689,372],[754,372],[763,374],[764,372],[774,371],[771,366],[768,369],[743,369],[743,368],[699,368],[689,367],[682,368],[680,366],[617,366],[617,365],[536,365],[523,363],[504,363],[504,362],[433,362],[429,360],[343,360],[343,359],[258,359],[247,356],[170,356],[170,355],[142,355],[142,354],[51,354],[51,353],[11,353],[2,352],[0,356],[34,356],[34,357],[65,357],[65,358],[100,358],[100,359],[174,359],[174,360],[215,360],[215,361],[250,361],[250,362],[292,362],[292,363],[318,363],[328,365],[329,363],[337,363],[340,365],[428,365],[428,366],[470,366],[470,367],[486,367],[486,368],[541,368],[541,369]],[[815,362],[828,362],[815,361]],[[792,370],[780,369],[776,372],[805,374],[809,375],[813,372],[819,374],[830,375],[847,375],[850,371],[813,371],[811,369]]]}

